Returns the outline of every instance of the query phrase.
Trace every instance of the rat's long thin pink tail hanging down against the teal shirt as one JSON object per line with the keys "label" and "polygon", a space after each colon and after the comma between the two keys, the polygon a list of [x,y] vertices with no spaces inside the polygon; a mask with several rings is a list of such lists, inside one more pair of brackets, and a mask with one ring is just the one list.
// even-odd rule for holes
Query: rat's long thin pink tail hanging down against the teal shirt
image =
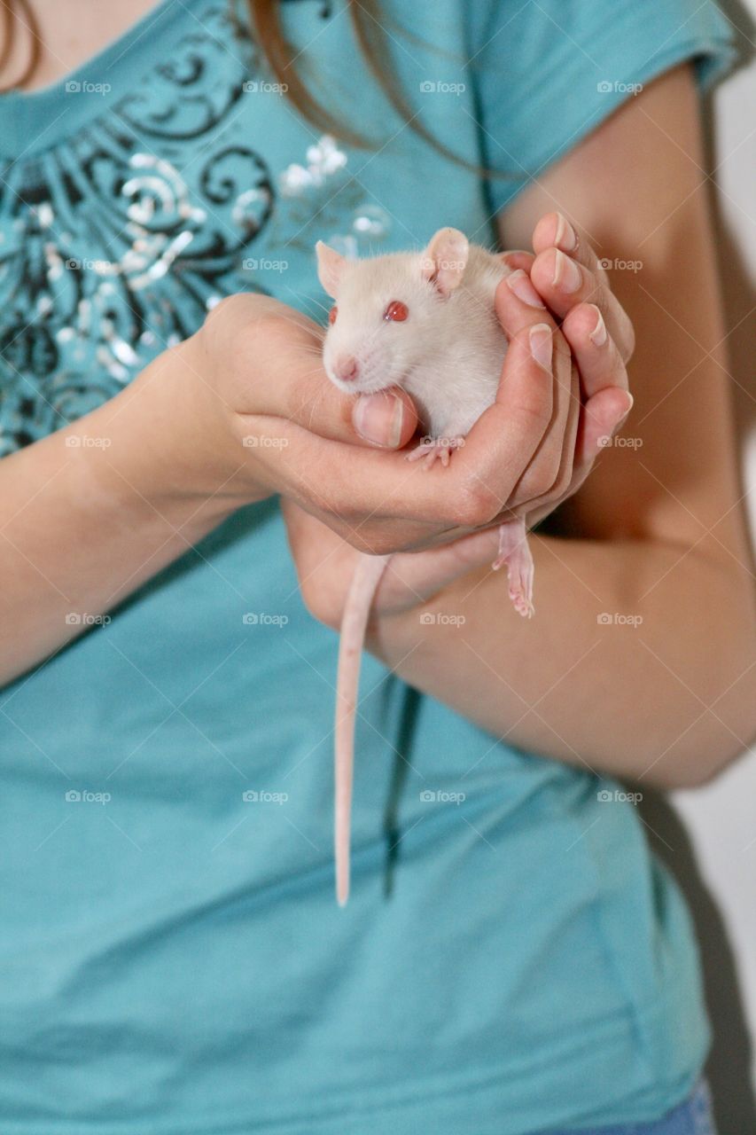
{"label": "rat's long thin pink tail hanging down against the teal shirt", "polygon": [[342,619],[338,675],[336,679],[336,747],[334,754],[336,898],[342,907],[350,896],[350,819],[354,768],[354,722],[362,647],[372,597],[389,558],[390,556],[360,556]]}

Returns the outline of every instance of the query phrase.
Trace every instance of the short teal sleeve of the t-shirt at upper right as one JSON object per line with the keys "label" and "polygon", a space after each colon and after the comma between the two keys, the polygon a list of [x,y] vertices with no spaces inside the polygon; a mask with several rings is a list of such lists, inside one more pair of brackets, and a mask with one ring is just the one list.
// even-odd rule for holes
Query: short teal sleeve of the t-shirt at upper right
{"label": "short teal sleeve of the t-shirt at upper right", "polygon": [[712,0],[472,0],[471,79],[492,211],[644,85],[695,61],[706,91],[737,58]]}

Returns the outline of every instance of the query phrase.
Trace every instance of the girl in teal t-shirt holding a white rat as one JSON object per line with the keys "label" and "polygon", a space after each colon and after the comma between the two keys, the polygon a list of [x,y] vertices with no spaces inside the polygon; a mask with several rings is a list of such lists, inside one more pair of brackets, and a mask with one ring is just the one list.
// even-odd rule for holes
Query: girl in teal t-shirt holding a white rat
{"label": "girl in teal t-shirt holding a white rat", "polygon": [[[616,777],[697,784],[756,731],[697,102],[728,24],[2,7],[0,1126],[712,1130],[690,919]],[[327,382],[312,250],[443,225],[528,251],[497,407],[423,474],[405,396]],[[355,549],[401,554],[339,910]]]}

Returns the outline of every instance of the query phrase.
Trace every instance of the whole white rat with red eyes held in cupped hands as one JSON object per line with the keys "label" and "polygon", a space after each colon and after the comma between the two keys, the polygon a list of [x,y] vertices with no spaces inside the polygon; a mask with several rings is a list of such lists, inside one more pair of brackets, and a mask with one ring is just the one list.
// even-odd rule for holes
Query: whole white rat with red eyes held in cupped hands
{"label": "whole white rat with red eyes held in cupped hands", "polygon": [[[336,301],[328,317],[322,360],[345,394],[375,394],[392,386],[410,394],[426,437],[408,454],[426,466],[462,444],[490,406],[502,377],[506,337],[494,293],[511,269],[464,234],[442,228],[422,252],[347,260],[321,241],[318,276]],[[350,889],[350,818],[354,718],[364,632],[376,588],[389,556],[360,557],[341,630],[336,690],[335,852],[336,896]],[[521,615],[532,607],[532,556],[524,518],[499,527],[494,569],[506,563],[510,597]]]}

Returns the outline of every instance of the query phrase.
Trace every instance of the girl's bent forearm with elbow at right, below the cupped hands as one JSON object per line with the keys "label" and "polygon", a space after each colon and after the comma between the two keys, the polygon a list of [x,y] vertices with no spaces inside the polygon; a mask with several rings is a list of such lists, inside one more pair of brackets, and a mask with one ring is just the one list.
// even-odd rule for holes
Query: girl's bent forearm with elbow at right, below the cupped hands
{"label": "girl's bent forearm with elbow at right, below the cupped hands", "polygon": [[746,571],[680,545],[531,543],[532,620],[512,609],[501,574],[480,570],[422,608],[383,616],[371,649],[495,735],[582,768],[684,785],[748,745],[756,636]]}

